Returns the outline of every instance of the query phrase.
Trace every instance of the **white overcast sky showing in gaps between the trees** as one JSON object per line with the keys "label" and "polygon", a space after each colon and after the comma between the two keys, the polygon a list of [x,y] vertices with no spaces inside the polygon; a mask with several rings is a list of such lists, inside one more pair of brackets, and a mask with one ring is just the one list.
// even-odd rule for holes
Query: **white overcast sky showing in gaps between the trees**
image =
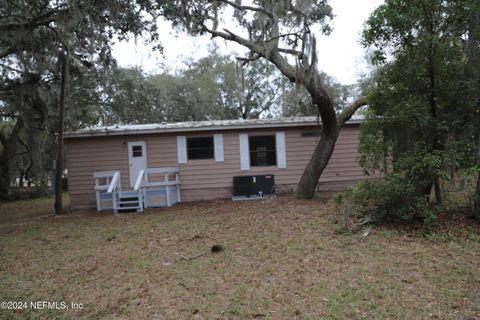
{"label": "white overcast sky showing in gaps between the trees", "polygon": [[[331,0],[335,19],[330,36],[317,38],[317,51],[320,70],[335,77],[344,84],[354,83],[362,72],[366,71],[365,50],[360,46],[360,33],[363,23],[370,13],[383,0]],[[176,35],[165,23],[161,32],[164,57],[143,45],[141,38],[136,41],[118,43],[113,55],[121,66],[139,65],[148,73],[170,71],[181,67],[182,61],[189,58],[201,58],[208,54],[209,37],[192,38]],[[239,46],[219,40],[220,49],[228,53],[244,55],[245,50]],[[195,58],[195,59],[196,59]]]}

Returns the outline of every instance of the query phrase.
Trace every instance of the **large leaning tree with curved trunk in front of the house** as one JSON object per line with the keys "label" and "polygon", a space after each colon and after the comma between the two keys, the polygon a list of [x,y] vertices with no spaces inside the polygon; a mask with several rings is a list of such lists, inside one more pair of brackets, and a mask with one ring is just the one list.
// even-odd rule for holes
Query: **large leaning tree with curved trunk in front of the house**
{"label": "large leaning tree with curved trunk in front of the house", "polygon": [[[244,61],[268,60],[291,82],[304,87],[318,107],[322,119],[321,139],[297,187],[297,196],[312,198],[318,179],[335,147],[339,131],[352,114],[366,103],[361,97],[337,116],[333,101],[318,72],[316,40],[311,32],[319,27],[328,34],[332,9],[326,1],[173,1],[181,10],[165,11],[174,26],[192,34],[210,34],[236,42],[250,51]],[[235,32],[220,30],[219,17],[234,11]]]}

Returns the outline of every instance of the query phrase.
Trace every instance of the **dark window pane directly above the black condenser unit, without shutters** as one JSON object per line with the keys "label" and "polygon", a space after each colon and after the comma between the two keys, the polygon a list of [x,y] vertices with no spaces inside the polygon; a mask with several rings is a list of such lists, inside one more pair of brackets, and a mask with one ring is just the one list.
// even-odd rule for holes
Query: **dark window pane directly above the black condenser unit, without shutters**
{"label": "dark window pane directly above the black condenser unit, without shutters", "polygon": [[250,136],[248,144],[252,167],[276,165],[275,136]]}

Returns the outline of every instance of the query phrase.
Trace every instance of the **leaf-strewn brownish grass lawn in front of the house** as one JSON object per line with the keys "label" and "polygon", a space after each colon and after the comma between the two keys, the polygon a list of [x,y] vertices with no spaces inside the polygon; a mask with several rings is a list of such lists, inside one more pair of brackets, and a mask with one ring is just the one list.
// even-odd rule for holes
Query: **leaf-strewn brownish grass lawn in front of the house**
{"label": "leaf-strewn brownish grass lawn in front of the house", "polygon": [[480,319],[473,223],[342,234],[328,200],[290,196],[120,215],[51,206],[0,204],[0,301],[83,308],[0,318]]}

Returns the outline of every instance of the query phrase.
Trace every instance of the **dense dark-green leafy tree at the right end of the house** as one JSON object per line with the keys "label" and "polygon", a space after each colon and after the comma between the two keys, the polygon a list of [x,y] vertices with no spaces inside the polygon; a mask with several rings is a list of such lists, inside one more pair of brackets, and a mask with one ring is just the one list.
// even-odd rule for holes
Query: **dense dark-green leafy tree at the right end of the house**
{"label": "dense dark-green leafy tree at the right end of the house", "polygon": [[388,0],[363,33],[379,70],[362,127],[362,164],[397,176],[395,183],[413,187],[412,197],[428,199],[433,188],[437,204],[440,180],[471,167],[477,150],[478,87],[469,69],[478,73],[466,63],[465,39],[478,5]]}

